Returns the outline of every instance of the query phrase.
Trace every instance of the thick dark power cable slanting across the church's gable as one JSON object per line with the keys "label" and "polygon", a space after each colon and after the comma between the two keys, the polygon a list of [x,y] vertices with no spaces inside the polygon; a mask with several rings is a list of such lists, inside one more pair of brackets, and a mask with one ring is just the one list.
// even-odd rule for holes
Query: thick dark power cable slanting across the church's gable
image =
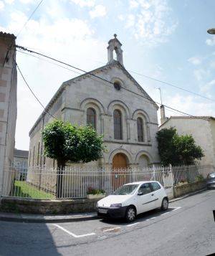
{"label": "thick dark power cable slanting across the church's gable", "polygon": [[[76,69],[76,70],[80,70],[80,71],[82,71],[82,72],[85,73],[85,74],[82,74],[82,75],[92,75],[92,77],[99,78],[100,80],[103,80],[103,81],[105,81],[105,82],[108,82],[108,83],[114,85],[114,83],[113,83],[113,82],[110,82],[109,80],[106,80],[106,79],[104,79],[104,78],[102,78],[102,77],[98,77],[97,75],[94,75],[94,74],[92,74],[92,73],[90,73],[90,72],[87,72],[87,71],[85,71],[85,70],[82,70],[82,69],[80,69],[79,67],[75,67],[75,66],[73,66],[73,65],[67,64],[66,62],[62,62],[61,60],[57,60],[57,59],[54,59],[53,57],[49,57],[49,56],[47,56],[46,54],[41,54],[41,53],[39,53],[39,52],[34,52],[34,51],[30,50],[30,49],[27,49],[26,47],[22,47],[22,46],[19,46],[19,45],[16,45],[16,47],[19,48],[19,49],[22,49],[22,50],[24,50],[24,51],[32,52],[32,53],[38,54],[38,55],[40,55],[40,56],[42,56],[42,57],[46,57],[46,58],[49,59],[49,60],[54,60],[55,62],[59,62],[59,63],[61,63],[61,64],[63,64],[63,65],[67,65],[67,66],[72,67],[72,68],[74,68],[74,69]],[[72,71],[72,70],[71,70],[71,71]],[[92,77],[89,77],[89,78],[92,79]],[[105,85],[106,85],[106,84],[105,84]],[[156,104],[158,104],[158,105],[161,105],[161,103],[158,103],[158,102],[152,100],[151,98],[147,98],[147,97],[145,97],[145,96],[143,96],[143,95],[140,95],[139,93],[135,93],[135,92],[133,92],[132,90],[129,90],[128,88],[125,88],[125,87],[123,87],[123,86],[122,86],[121,88],[122,88],[123,90],[127,90],[127,91],[130,92],[130,93],[133,93],[133,94],[135,94],[135,95],[138,95],[138,96],[140,96],[141,98],[145,98],[145,99],[151,101],[152,103],[156,103]],[[205,119],[205,118],[201,118],[201,117],[196,117],[196,116],[194,116],[194,115],[190,115],[190,114],[185,113],[185,112],[183,112],[183,111],[181,111],[181,110],[177,110],[176,108],[171,108],[171,107],[168,106],[168,105],[164,105],[164,104],[163,104],[163,106],[165,106],[166,108],[169,108],[169,109],[171,109],[171,110],[175,110],[175,111],[177,111],[178,113],[182,113],[183,115],[188,115],[188,116],[191,116],[191,117],[194,117],[194,118]]]}

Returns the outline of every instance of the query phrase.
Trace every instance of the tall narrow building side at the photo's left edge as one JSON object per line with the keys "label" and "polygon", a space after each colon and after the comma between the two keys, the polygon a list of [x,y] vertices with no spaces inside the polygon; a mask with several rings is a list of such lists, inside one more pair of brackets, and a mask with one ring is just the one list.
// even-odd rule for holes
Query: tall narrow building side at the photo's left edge
{"label": "tall narrow building side at the photo's left edge", "polygon": [[[6,174],[14,159],[16,129],[16,51],[14,34],[0,32],[0,196],[10,191]],[[5,189],[4,189],[5,188]],[[4,191],[3,191],[4,189]]]}

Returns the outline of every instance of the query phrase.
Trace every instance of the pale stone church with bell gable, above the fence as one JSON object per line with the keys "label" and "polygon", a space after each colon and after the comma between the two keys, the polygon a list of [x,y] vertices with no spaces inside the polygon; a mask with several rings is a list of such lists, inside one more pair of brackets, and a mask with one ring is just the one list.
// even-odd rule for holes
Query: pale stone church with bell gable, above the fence
{"label": "pale stone church with bell gable, above the fence", "polygon": [[41,131],[53,120],[49,113],[72,124],[92,125],[104,136],[102,158],[87,166],[144,168],[160,162],[158,105],[125,70],[121,46],[115,34],[108,42],[107,65],[62,83],[29,132],[29,166],[56,167],[56,161],[43,156]]}

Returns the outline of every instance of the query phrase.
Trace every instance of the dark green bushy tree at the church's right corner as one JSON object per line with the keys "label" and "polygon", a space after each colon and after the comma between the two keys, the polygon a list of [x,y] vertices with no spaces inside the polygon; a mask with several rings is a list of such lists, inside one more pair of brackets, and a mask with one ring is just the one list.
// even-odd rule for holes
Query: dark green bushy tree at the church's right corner
{"label": "dark green bushy tree at the church's right corner", "polygon": [[157,133],[158,152],[163,166],[168,164],[183,165],[194,164],[200,160],[204,153],[200,146],[196,146],[193,136],[179,136],[176,129],[164,128]]}

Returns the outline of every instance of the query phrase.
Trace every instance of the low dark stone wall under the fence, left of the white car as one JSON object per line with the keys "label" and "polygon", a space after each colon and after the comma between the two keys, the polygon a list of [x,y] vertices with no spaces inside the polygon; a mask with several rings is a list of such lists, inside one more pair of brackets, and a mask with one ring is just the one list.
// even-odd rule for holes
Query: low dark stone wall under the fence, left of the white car
{"label": "low dark stone wall under the fence, left of the white car", "polygon": [[100,199],[36,200],[1,198],[1,212],[30,214],[69,214],[93,212]]}

